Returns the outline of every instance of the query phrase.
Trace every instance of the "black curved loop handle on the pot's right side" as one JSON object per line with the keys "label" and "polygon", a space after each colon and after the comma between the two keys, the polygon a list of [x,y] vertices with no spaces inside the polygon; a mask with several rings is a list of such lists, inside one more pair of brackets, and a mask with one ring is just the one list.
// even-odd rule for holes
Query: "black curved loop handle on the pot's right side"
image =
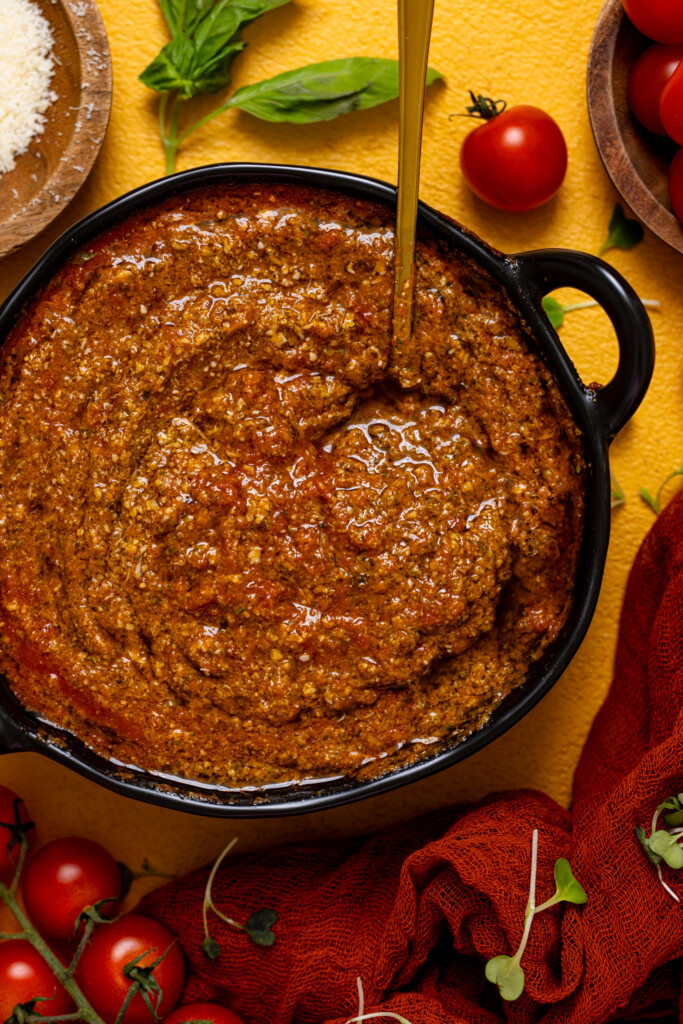
{"label": "black curved loop handle on the pot's right side", "polygon": [[609,263],[566,249],[517,253],[520,284],[541,304],[555,288],[587,292],[603,307],[616,333],[616,373],[603,388],[591,390],[610,441],[643,399],[654,368],[654,338],[645,307],[633,288]]}

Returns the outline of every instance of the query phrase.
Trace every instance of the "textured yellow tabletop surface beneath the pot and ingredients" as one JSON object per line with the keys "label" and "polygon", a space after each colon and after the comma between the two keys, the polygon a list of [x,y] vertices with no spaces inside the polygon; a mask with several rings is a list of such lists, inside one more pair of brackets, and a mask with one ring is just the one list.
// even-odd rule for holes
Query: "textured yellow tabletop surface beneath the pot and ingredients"
{"label": "textured yellow tabletop surface beneath the pot and ingredients", "polygon": [[[99,0],[99,8],[114,63],[104,145],[68,210],[34,243],[0,263],[0,299],[73,221],[164,172],[157,98],[137,81],[167,40],[157,0]],[[430,62],[445,83],[429,90],[421,197],[503,251],[565,246],[596,252],[606,236],[617,196],[596,152],[585,98],[588,50],[599,9],[600,0],[436,0]],[[396,56],[395,5],[391,0],[293,0],[251,26],[246,38],[249,46],[234,68],[237,86],[332,57]],[[510,104],[542,105],[559,122],[569,166],[564,185],[547,206],[528,214],[499,213],[474,199],[463,183],[458,154],[472,123],[450,115],[464,110],[470,87],[505,97]],[[213,101],[196,101],[191,120]],[[311,126],[268,125],[227,112],[188,140],[178,170],[219,161],[280,162],[395,181],[396,119],[395,101]],[[551,693],[505,736],[449,771],[365,803],[280,820],[219,821],[154,808],[99,788],[38,755],[3,757],[0,782],[25,797],[43,840],[86,835],[133,867],[146,856],[166,870],[183,871],[212,859],[231,836],[239,836],[240,848],[247,850],[359,833],[429,807],[515,786],[540,787],[568,803],[574,765],[610,683],[627,573],[653,521],[638,487],[656,489],[683,461],[683,257],[646,231],[636,249],[612,250],[606,258],[642,297],[661,303],[652,315],[657,364],[645,401],[612,446],[612,466],[627,502],[612,513],[598,610],[581,650]],[[611,376],[616,343],[601,310],[572,313],[561,338],[585,380]]]}

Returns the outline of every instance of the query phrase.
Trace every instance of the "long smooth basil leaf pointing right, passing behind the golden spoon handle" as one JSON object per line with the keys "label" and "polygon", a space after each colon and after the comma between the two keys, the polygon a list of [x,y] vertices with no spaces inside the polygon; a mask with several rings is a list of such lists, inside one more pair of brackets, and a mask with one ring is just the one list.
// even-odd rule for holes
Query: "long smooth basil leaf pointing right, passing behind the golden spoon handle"
{"label": "long smooth basil leaf pointing right, passing behind the golden spoon handle", "polygon": [[[427,85],[442,78],[430,68]],[[307,65],[238,89],[225,106],[263,121],[310,124],[365,110],[398,95],[398,61],[379,57],[346,57]]]}

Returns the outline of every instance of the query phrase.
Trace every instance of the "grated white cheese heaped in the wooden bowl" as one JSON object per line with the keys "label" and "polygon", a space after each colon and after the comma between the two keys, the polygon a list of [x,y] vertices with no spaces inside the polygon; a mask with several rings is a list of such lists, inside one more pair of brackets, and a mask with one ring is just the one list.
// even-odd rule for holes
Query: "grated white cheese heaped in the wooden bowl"
{"label": "grated white cheese heaped in the wooden bowl", "polygon": [[52,31],[31,0],[0,0],[0,174],[11,171],[57,98]]}

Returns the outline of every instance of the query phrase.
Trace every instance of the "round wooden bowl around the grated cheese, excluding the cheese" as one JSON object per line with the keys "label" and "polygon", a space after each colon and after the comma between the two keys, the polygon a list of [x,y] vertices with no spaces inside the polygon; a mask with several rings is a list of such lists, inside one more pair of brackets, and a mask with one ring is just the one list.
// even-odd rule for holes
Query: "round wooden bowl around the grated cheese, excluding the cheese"
{"label": "round wooden bowl around the grated cheese, excluding the cheese", "polygon": [[11,171],[0,174],[0,256],[61,213],[102,144],[112,105],[112,60],[94,0],[34,0],[52,29],[57,99]]}

